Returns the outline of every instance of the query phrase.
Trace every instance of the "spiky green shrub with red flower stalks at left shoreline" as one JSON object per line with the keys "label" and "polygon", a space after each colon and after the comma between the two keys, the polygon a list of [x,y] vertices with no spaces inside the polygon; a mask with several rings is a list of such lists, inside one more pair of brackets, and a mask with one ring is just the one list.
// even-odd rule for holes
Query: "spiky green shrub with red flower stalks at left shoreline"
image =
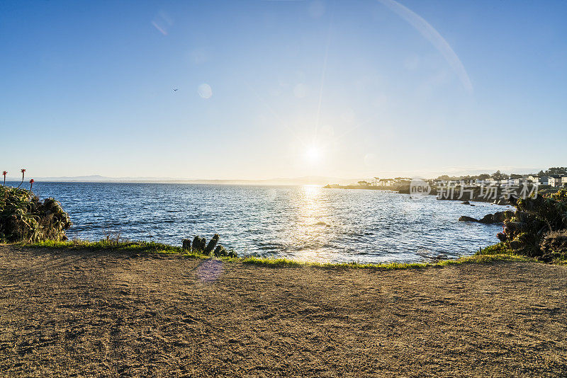
{"label": "spiky green shrub with red flower stalks at left shoreline", "polygon": [[29,190],[0,186],[0,241],[66,240],[69,214],[53,198],[41,201]]}

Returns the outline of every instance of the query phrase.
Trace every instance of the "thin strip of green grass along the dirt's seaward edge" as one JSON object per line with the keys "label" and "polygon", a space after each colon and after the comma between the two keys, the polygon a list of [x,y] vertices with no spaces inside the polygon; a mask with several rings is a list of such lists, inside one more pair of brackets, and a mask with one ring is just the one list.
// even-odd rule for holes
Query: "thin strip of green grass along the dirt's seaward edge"
{"label": "thin strip of green grass along the dirt's seaward edge", "polygon": [[[195,253],[183,250],[181,247],[171,246],[169,244],[154,243],[147,241],[39,241],[31,244],[20,244],[30,248],[60,248],[69,250],[113,250],[113,251],[135,251],[138,253],[179,253],[182,256],[190,258],[211,258],[201,253]],[[244,257],[244,258],[217,258],[227,262],[239,262],[247,265],[256,265],[267,268],[298,268],[298,267],[315,267],[315,268],[357,268],[357,269],[376,269],[376,270],[397,270],[397,269],[420,269],[427,267],[443,267],[449,265],[461,265],[469,263],[495,263],[498,261],[533,261],[532,258],[525,256],[517,256],[510,251],[505,250],[502,244],[495,244],[478,251],[475,255],[469,257],[461,257],[454,260],[441,260],[432,263],[314,263],[310,261],[292,260],[288,258],[260,258],[260,257]],[[567,262],[558,262],[567,263]]]}

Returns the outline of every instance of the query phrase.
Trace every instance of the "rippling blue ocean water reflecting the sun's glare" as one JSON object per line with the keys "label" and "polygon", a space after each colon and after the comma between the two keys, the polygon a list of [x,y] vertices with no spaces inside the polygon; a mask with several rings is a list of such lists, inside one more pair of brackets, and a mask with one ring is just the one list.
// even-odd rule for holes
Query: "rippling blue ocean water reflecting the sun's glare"
{"label": "rippling blue ocean water reflecting the sun's glare", "polygon": [[509,207],[476,202],[419,201],[380,190],[317,186],[167,183],[35,183],[72,219],[70,238],[108,234],[181,245],[194,235],[240,256],[328,262],[420,262],[468,256],[498,242],[501,225],[458,222]]}

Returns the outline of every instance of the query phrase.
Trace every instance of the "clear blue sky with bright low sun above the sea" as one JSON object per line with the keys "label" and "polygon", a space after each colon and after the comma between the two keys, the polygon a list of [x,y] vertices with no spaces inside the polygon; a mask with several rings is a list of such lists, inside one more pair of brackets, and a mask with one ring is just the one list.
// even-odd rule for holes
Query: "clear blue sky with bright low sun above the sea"
{"label": "clear blue sky with bright low sun above the sea", "polygon": [[565,166],[566,18],[564,1],[1,1],[0,170]]}

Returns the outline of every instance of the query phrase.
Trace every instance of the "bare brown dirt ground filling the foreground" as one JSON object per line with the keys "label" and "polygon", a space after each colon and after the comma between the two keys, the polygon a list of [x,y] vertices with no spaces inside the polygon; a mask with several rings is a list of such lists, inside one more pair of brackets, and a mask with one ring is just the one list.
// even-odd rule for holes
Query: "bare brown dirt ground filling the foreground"
{"label": "bare brown dirt ground filling the foreground", "polygon": [[567,376],[567,266],[0,246],[0,376]]}

